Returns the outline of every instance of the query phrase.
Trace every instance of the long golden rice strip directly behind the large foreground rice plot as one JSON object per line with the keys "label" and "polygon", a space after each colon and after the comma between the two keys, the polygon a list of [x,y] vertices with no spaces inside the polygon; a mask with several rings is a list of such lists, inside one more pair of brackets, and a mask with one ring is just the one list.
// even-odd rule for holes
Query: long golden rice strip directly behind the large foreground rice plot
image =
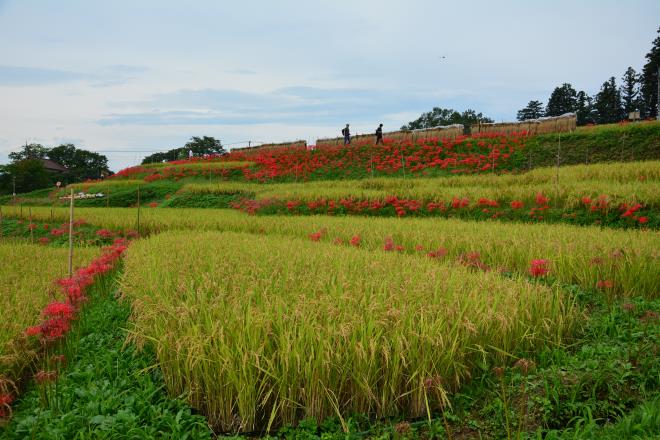
{"label": "long golden rice strip directly behind the large foreground rice plot", "polygon": [[[11,210],[4,208],[5,212]],[[135,227],[135,209],[81,208],[77,215],[108,229]],[[33,215],[49,216],[48,208]],[[66,209],[56,209],[66,218]],[[593,288],[599,282],[608,295],[657,296],[660,292],[658,249],[660,234],[652,230],[612,230],[570,225],[509,224],[453,219],[397,219],[363,217],[248,216],[234,210],[144,209],[141,231],[217,230],[277,234],[309,239],[320,233],[323,242],[347,245],[359,235],[362,247],[426,254],[445,249],[446,259],[470,263],[470,258],[493,268],[527,273],[530,261],[548,259],[554,276],[566,283]],[[416,250],[421,246],[423,250]],[[477,253],[478,255],[470,254]]]}

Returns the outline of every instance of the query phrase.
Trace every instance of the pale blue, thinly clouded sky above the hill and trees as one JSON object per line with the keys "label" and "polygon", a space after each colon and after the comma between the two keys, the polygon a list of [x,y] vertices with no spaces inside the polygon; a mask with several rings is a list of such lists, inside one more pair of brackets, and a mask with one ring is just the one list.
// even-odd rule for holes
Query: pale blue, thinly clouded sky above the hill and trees
{"label": "pale blue, thinly clouded sky above the hill and trees", "polygon": [[314,143],[436,106],[515,120],[640,71],[658,18],[657,0],[0,0],[0,163],[74,143],[117,171],[192,136]]}

